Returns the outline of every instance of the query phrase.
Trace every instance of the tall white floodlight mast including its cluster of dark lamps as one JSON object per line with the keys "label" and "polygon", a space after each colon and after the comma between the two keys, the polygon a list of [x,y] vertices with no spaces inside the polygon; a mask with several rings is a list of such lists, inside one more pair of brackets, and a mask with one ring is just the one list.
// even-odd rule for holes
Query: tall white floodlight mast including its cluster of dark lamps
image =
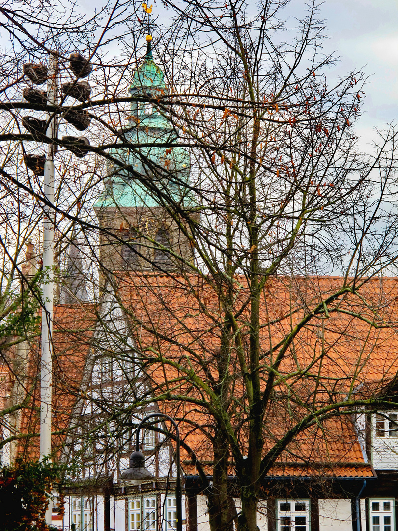
{"label": "tall white floodlight mast including its cluster of dark lamps", "polygon": [[[47,93],[32,88],[23,89],[23,97],[31,103],[40,102],[42,105],[49,104],[53,108],[58,107],[58,53],[52,52],[49,59],[49,68],[42,64],[26,63],[23,65],[23,73],[29,80],[40,85],[47,81]],[[64,98],[71,96],[79,101],[89,98],[91,88],[86,81],[77,81],[85,78],[92,71],[91,63],[79,53],[70,57],[70,67],[76,80],[72,83],[64,83],[62,90]],[[54,302],[54,156],[57,150],[58,118],[61,110],[48,110],[47,120],[39,120],[34,116],[25,116],[22,125],[32,134],[33,140],[41,140],[41,135],[51,140],[48,144],[47,156],[28,155],[25,162],[28,168],[36,175],[44,175],[42,194],[48,201],[44,205],[43,221],[43,280],[42,280],[42,316],[41,316],[41,361],[40,361],[40,459],[51,455],[51,398],[52,398],[52,374],[53,374],[53,302]],[[80,113],[80,114],[79,114]],[[69,118],[67,118],[69,116]],[[79,131],[84,131],[89,126],[89,119],[79,111],[65,113],[66,121],[70,122]],[[46,127],[47,125],[47,127]],[[88,154],[87,145],[90,144],[85,137],[65,136],[63,141],[68,142],[68,149],[77,157],[81,158]],[[43,165],[43,166],[41,166]],[[46,523],[51,524],[51,500],[46,511]]]}

